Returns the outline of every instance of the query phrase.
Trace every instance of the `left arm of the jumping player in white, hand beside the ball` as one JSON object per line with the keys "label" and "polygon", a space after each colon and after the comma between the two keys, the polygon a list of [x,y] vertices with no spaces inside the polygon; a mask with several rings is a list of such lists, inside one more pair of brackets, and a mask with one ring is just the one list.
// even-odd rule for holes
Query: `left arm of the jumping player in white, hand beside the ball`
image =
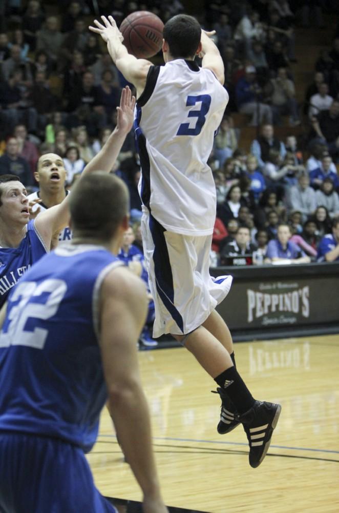
{"label": "left arm of the jumping player in white, hand beside the ball", "polygon": [[103,41],[107,43],[109,54],[116,67],[123,76],[137,89],[138,96],[142,93],[147,73],[152,63],[146,59],[138,59],[131,55],[122,44],[122,34],[119,31],[115,19],[112,16],[106,18],[101,16],[101,23],[94,20],[95,27],[89,27],[92,32],[100,34]]}

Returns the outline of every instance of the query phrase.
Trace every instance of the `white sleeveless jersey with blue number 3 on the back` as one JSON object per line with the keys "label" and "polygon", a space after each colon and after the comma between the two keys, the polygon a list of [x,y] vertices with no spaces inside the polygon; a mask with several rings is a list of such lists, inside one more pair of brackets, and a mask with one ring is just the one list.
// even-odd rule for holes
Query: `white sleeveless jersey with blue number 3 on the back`
{"label": "white sleeveless jersey with blue number 3 on the back", "polygon": [[228,94],[194,61],[151,66],[134,128],[142,203],[168,231],[213,233],[216,187],[207,160]]}

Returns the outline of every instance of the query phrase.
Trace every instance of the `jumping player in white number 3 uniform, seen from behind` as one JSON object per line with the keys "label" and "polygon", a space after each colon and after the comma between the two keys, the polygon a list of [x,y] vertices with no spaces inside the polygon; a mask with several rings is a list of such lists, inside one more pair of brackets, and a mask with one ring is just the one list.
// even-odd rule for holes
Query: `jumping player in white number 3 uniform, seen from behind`
{"label": "jumping player in white number 3 uniform, seen from behind", "polygon": [[231,277],[209,275],[216,190],[207,159],[228,101],[219,50],[195,18],[180,14],[164,26],[165,65],[152,66],[128,53],[112,16],[101,19],[90,29],[107,42],[117,68],[137,90],[134,127],[144,254],[156,305],[153,334],[171,333],[216,381],[222,399],[218,431],[241,422],[249,463],[257,467],[281,406],[255,401],[236,370],[229,330],[215,310]]}

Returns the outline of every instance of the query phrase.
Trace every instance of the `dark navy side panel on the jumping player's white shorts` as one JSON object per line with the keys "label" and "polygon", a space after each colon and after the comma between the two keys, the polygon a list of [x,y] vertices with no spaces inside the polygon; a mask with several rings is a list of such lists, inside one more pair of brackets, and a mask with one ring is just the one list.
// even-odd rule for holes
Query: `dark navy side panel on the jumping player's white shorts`
{"label": "dark navy side panel on the jumping player's white shorts", "polygon": [[182,317],[174,306],[173,275],[164,237],[165,228],[152,215],[150,215],[150,230],[154,242],[153,261],[157,291],[178,327],[184,332]]}

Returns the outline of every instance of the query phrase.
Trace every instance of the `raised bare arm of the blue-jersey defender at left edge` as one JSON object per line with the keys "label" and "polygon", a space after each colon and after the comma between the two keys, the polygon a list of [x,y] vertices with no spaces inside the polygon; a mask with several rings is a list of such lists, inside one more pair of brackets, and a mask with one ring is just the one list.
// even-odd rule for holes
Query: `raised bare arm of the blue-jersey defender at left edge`
{"label": "raised bare arm of the blue-jersey defender at left edge", "polygon": [[[126,135],[132,129],[134,106],[135,97],[132,96],[131,89],[126,86],[121,92],[120,106],[117,107],[117,126],[99,153],[87,164],[86,168],[84,168],[81,176],[95,170],[106,171],[107,173],[112,170]],[[62,162],[62,159],[60,160]],[[68,226],[69,216],[68,196],[66,196],[59,205],[55,205],[37,216],[35,227],[43,238],[47,248],[50,248],[53,234],[58,233],[62,228]]]}

